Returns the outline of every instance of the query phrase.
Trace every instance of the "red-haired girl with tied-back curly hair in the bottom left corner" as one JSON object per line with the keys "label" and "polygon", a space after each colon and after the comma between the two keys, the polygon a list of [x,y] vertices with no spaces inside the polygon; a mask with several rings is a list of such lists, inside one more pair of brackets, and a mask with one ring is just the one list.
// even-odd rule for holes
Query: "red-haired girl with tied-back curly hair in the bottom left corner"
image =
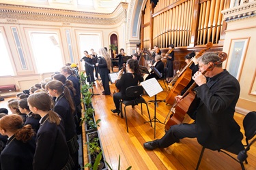
{"label": "red-haired girl with tied-back curly hair in the bottom left corner", "polygon": [[31,125],[23,126],[23,119],[16,114],[6,115],[0,119],[0,133],[9,137],[1,152],[1,168],[33,169],[35,133]]}

